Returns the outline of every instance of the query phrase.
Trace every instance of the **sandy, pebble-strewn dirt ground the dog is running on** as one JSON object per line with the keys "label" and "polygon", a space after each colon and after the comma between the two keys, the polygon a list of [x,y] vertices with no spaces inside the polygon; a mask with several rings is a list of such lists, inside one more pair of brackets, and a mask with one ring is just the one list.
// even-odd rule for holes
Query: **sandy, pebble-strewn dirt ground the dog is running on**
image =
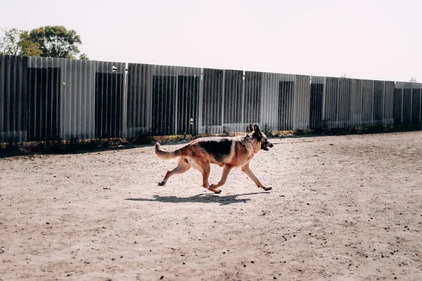
{"label": "sandy, pebble-strewn dirt ground the dog is running on", "polygon": [[270,192],[159,187],[152,145],[1,158],[0,280],[422,280],[422,132],[271,141]]}

